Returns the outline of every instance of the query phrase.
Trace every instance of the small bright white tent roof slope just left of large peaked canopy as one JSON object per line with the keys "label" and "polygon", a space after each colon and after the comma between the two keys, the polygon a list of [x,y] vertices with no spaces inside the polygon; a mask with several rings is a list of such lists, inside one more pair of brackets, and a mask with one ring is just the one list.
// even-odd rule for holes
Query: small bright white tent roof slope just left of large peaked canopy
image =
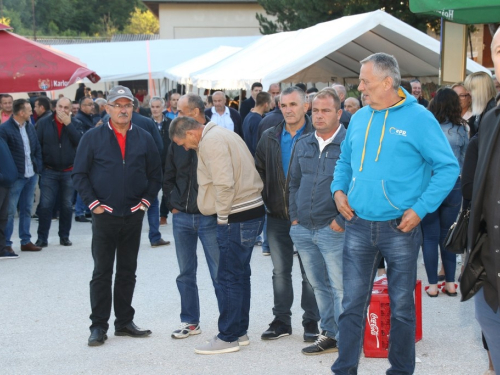
{"label": "small bright white tent roof slope just left of large peaked canopy", "polygon": [[165,77],[183,85],[191,85],[193,72],[208,68],[241,50],[241,47],[222,46],[165,71]]}

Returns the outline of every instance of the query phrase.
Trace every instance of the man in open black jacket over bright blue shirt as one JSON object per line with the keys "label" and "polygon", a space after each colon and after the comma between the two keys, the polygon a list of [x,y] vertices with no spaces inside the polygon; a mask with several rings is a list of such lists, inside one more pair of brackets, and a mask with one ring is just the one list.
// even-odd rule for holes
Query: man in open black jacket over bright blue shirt
{"label": "man in open black jacket over bright blue shirt", "polygon": [[[262,334],[263,340],[277,339],[292,333],[291,307],[293,303],[292,266],[293,242],[290,238],[288,212],[288,169],[293,157],[295,142],[302,134],[313,131],[311,120],[306,116],[309,106],[305,93],[292,86],[281,94],[281,111],[284,121],[264,132],[257,145],[255,163],[264,190],[262,197],[267,210],[267,240],[273,261],[273,291],[275,316],[269,329]],[[318,331],[319,312],[314,291],[307,280],[299,257],[302,273],[302,308],[304,315],[304,341],[313,342]]]}

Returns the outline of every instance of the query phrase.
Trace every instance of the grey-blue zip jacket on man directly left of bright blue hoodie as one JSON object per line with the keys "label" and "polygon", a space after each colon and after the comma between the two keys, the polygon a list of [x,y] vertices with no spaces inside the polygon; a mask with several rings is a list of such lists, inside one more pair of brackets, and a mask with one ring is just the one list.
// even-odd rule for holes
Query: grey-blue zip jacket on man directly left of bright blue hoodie
{"label": "grey-blue zip jacket on man directly left of bright blue hoodie", "polygon": [[333,141],[319,151],[315,132],[303,135],[295,144],[295,155],[290,166],[290,221],[317,230],[333,219],[342,228],[344,218],[339,214],[330,192],[333,171],[340,155],[340,144],[345,138],[343,125]]}

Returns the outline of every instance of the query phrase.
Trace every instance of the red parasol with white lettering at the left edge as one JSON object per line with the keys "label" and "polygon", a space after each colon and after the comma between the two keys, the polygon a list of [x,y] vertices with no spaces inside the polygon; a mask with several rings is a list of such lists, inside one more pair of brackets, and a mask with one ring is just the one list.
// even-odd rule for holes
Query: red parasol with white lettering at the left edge
{"label": "red parasol with white lettering at the left edge", "polygon": [[0,92],[60,90],[99,77],[77,58],[33,42],[0,23]]}

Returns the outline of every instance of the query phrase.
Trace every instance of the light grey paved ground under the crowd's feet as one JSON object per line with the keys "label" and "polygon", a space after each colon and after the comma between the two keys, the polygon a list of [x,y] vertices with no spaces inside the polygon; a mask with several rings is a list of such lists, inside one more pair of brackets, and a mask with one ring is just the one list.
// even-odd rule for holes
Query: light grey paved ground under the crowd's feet
{"label": "light grey paved ground under the crowd's feet", "polygon": [[[36,228],[33,220],[31,232],[36,233]],[[217,333],[217,303],[201,246],[198,275],[203,333],[185,340],[170,338],[179,324],[174,245],[151,248],[147,229],[145,224],[133,303],[135,322],[153,331],[146,339],[115,337],[111,330],[104,346],[87,346],[92,272],[89,224],[75,222],[74,245],[63,247],[57,222],[53,222],[48,248],[40,253],[19,252],[18,260],[1,261],[0,374],[330,374],[337,354],[306,357],[300,353],[304,343],[297,262],[294,334],[272,342],[260,340],[272,320],[273,297],[271,259],[262,256],[258,247],[252,259],[250,346],[215,356],[193,351],[195,345]],[[163,238],[173,242],[170,224],[161,231]],[[19,249],[17,237],[14,248]],[[418,274],[426,280],[420,260]],[[473,302],[461,303],[444,294],[432,299],[424,294],[422,298],[424,338],[416,346],[415,374],[482,374],[487,356]],[[386,359],[362,357],[359,374],[384,374],[387,367]]]}

